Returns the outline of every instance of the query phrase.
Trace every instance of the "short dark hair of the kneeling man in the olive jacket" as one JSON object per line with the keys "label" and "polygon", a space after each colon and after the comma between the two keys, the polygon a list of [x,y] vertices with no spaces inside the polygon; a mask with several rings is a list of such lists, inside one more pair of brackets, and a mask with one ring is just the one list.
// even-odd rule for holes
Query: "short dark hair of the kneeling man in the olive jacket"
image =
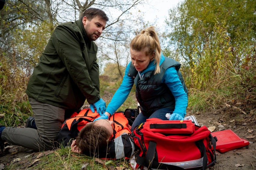
{"label": "short dark hair of the kneeling man in the olive jacket", "polygon": [[80,19],[82,20],[85,16],[89,21],[96,16],[99,16],[100,19],[104,19],[106,22],[108,21],[108,17],[105,14],[105,12],[97,8],[88,8],[87,10],[84,11]]}

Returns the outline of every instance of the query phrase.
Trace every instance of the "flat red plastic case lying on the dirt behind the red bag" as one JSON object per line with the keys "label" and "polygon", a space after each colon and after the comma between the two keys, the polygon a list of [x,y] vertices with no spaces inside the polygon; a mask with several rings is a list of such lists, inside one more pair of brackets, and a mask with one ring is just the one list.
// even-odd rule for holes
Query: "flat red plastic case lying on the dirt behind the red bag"
{"label": "flat red plastic case lying on the dirt behind the red bag", "polygon": [[216,150],[221,153],[249,145],[247,140],[240,138],[230,129],[212,132],[211,134],[217,137]]}

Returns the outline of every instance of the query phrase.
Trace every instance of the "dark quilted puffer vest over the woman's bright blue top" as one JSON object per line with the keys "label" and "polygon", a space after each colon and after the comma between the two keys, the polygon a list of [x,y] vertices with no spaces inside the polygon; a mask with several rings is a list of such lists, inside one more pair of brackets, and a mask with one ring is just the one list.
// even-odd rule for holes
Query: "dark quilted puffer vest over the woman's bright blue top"
{"label": "dark quilted puffer vest over the woman's bright blue top", "polygon": [[181,72],[179,71],[181,64],[172,58],[164,57],[165,60],[160,65],[160,73],[154,75],[154,70],[144,74],[142,79],[139,78],[138,71],[133,64],[130,64],[128,76],[134,79],[136,86],[136,98],[142,106],[141,111],[144,115],[151,115],[160,108],[175,108],[175,98],[165,83],[162,83],[163,75],[167,68],[175,67],[178,72],[179,79],[187,93],[187,87],[184,83]]}

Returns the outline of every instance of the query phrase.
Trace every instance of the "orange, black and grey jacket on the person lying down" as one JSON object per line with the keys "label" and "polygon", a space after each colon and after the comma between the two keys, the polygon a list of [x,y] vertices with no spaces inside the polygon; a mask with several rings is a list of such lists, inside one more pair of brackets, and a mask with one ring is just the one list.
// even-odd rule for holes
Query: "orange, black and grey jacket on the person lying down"
{"label": "orange, black and grey jacket on the person lying down", "polygon": [[[76,138],[79,131],[87,123],[93,122],[98,117],[99,114],[97,112],[93,113],[90,109],[83,109],[79,113],[73,113],[71,118],[62,124],[57,141],[59,143],[64,142],[65,146],[71,145],[72,140]],[[102,151],[102,153],[105,153],[102,157],[111,159],[131,157],[134,153],[135,146],[129,137],[131,127],[128,124],[127,118],[124,117],[123,112],[115,112],[110,116],[109,120],[114,122],[113,136],[108,143],[108,147]]]}

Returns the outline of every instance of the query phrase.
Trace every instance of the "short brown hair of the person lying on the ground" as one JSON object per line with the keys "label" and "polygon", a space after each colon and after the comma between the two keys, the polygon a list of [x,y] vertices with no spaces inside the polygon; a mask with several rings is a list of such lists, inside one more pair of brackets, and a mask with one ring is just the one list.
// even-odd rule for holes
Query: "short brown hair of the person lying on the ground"
{"label": "short brown hair of the person lying on the ground", "polygon": [[112,135],[106,127],[95,123],[87,124],[76,137],[76,145],[80,152],[90,156],[95,156],[102,148],[106,148]]}

